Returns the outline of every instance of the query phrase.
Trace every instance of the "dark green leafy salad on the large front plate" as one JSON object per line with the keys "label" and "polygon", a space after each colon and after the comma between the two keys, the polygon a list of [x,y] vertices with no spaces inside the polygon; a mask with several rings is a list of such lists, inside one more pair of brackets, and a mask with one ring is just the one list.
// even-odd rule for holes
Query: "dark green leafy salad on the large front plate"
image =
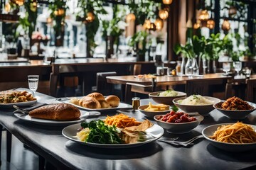
{"label": "dark green leafy salad on the large front plate", "polygon": [[102,120],[92,120],[90,123],[81,123],[82,128],[89,128],[90,134],[85,142],[101,144],[119,144],[122,140],[119,138],[118,130],[115,126],[107,126]]}

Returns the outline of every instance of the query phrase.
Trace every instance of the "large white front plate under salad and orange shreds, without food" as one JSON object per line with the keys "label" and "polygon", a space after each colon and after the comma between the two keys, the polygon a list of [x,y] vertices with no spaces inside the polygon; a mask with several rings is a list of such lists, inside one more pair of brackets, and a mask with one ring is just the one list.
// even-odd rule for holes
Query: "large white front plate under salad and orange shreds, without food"
{"label": "large white front plate under salad and orange shreds, without food", "polygon": [[69,125],[68,127],[64,128],[62,131],[63,136],[67,137],[69,140],[73,140],[83,145],[91,146],[91,147],[102,147],[102,148],[129,148],[129,147],[138,147],[140,145],[145,145],[149,142],[153,142],[158,140],[162,135],[164,135],[164,129],[161,128],[159,125],[153,125],[151,128],[147,129],[146,132],[149,132],[151,135],[154,135],[154,139],[146,140],[144,142],[137,142],[132,144],[98,144],[98,143],[91,143],[91,142],[82,142],[75,137],[78,129],[81,128],[80,123],[75,125]]}

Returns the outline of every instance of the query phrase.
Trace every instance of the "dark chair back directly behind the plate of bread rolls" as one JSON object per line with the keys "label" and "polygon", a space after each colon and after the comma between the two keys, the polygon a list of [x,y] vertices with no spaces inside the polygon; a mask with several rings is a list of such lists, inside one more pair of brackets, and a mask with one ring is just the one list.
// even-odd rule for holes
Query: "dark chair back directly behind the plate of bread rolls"
{"label": "dark chair back directly behind the plate of bread rolls", "polygon": [[103,95],[109,95],[112,93],[113,85],[107,83],[106,77],[116,76],[117,72],[97,72],[96,78],[96,90]]}

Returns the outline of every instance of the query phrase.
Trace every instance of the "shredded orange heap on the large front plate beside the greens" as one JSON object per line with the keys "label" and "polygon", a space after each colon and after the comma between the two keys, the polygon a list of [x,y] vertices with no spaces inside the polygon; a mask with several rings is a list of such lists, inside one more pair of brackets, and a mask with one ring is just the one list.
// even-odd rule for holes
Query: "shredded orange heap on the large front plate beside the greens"
{"label": "shredded orange heap on the large front plate beside the greens", "polygon": [[126,128],[129,126],[140,125],[135,118],[130,118],[128,115],[120,113],[119,115],[108,116],[105,119],[107,125],[115,125],[117,128]]}

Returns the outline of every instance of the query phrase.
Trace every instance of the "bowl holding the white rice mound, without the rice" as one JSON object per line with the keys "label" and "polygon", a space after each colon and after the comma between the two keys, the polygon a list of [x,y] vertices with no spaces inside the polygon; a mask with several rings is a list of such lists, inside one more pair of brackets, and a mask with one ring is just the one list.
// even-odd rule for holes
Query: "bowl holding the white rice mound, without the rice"
{"label": "bowl holding the white rice mound, without the rice", "polygon": [[220,102],[220,99],[214,98],[214,97],[208,97],[208,96],[203,96],[204,98],[213,101],[213,104],[208,104],[208,105],[185,105],[181,104],[178,101],[184,100],[186,97],[183,98],[175,98],[174,99],[174,104],[178,107],[181,108],[182,111],[185,112],[198,112],[199,114],[206,116],[209,115],[210,111],[213,111],[213,105],[215,103]]}

